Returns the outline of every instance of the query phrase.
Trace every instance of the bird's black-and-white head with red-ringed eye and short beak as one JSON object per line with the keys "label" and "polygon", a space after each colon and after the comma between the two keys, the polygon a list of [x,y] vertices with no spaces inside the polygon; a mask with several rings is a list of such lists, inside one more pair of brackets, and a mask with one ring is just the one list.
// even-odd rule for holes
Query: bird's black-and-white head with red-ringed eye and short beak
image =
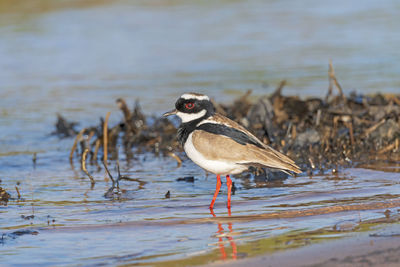
{"label": "bird's black-and-white head with red-ringed eye and short beak", "polygon": [[186,93],[175,103],[175,109],[164,113],[164,117],[177,115],[182,123],[207,118],[215,113],[214,105],[206,95]]}

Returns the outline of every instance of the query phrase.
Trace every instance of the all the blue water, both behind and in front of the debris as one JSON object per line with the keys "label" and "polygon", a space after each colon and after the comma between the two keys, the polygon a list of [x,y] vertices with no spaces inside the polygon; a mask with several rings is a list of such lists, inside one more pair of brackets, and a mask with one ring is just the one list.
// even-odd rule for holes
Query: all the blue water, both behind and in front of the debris
{"label": "all the blue water, both behind and in front of the debris", "polygon": [[[0,186],[14,198],[0,206],[0,262],[204,264],[304,245],[313,231],[346,223],[356,231],[360,221],[385,218],[386,209],[395,216],[390,205],[316,216],[282,212],[390,204],[399,198],[399,159],[281,181],[237,177],[231,214],[223,187],[214,216],[208,205],[215,177],[189,160],[178,168],[150,153],[130,162],[122,156],[122,174],[135,181],[121,182],[126,191],[110,200],[104,171],[89,166],[97,180],[91,189],[79,163],[69,164],[73,140],[50,135],[56,112],[84,127],[111,111],[110,124],[117,123],[119,97],[130,105],[140,98],[146,113],[159,115],[184,91],[230,101],[247,88],[271,93],[281,79],[288,79],[287,94],[322,96],[330,58],[346,92],[398,92],[399,4],[356,2],[0,6]],[[177,181],[185,176],[194,183]],[[282,216],[269,217],[275,212]],[[31,232],[16,233],[22,230]]]}

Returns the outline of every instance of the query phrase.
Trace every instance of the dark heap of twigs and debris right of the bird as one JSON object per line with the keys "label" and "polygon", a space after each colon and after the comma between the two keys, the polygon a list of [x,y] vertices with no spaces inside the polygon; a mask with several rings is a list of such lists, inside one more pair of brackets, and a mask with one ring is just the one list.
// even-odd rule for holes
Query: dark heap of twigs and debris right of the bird
{"label": "dark heap of twigs and debris right of the bird", "polygon": [[283,96],[281,88],[255,104],[240,99],[242,113],[236,105],[221,106],[220,112],[308,172],[337,171],[382,155],[398,160],[400,95],[352,93],[301,100]]}

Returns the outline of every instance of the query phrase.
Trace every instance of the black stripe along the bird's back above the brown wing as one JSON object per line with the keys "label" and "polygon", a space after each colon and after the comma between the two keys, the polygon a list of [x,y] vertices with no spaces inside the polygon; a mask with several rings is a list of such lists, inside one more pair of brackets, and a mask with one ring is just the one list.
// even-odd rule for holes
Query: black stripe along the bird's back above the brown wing
{"label": "black stripe along the bird's back above the brown wing", "polygon": [[263,146],[251,136],[248,136],[247,134],[245,134],[240,130],[237,130],[235,128],[223,124],[203,123],[197,126],[196,130],[203,130],[205,132],[212,134],[224,135],[241,145],[252,144],[259,148],[263,148]]}

